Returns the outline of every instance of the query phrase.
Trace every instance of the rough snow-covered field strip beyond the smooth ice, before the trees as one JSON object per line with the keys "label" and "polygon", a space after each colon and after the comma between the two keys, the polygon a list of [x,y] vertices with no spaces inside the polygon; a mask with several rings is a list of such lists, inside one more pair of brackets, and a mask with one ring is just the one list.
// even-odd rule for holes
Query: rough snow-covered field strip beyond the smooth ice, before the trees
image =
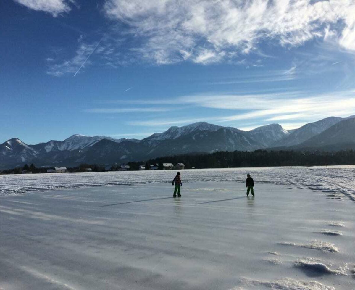
{"label": "rough snow-covered field strip beyond the smooth ice, before the trees", "polygon": [[[177,170],[102,173],[0,175],[0,195],[51,189],[171,182]],[[250,173],[259,184],[288,185],[327,192],[355,201],[355,166],[260,167],[183,170],[182,180],[244,182]]]}

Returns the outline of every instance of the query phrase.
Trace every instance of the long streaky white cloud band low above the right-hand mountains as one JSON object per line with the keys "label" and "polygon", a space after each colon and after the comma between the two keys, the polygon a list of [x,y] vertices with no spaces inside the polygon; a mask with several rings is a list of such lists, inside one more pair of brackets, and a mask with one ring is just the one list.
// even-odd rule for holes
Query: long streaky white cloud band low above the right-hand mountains
{"label": "long streaky white cloud band low above the right-hand mountains", "polygon": [[[296,127],[304,121],[316,121],[328,116],[346,117],[355,112],[355,90],[338,91],[328,94],[311,94],[310,92],[281,92],[268,94],[244,95],[191,95],[177,98],[181,105],[190,108],[203,107],[216,109],[216,113],[195,119],[168,118],[130,122],[140,126],[184,125],[191,122],[207,121],[240,124],[257,121],[262,124],[275,121]],[[158,100],[156,101],[158,102]],[[220,110],[236,111],[235,114],[220,114]],[[261,124],[261,125],[262,125]],[[294,125],[292,125],[294,124]],[[249,125],[247,125],[249,126]],[[236,126],[238,127],[238,126]]]}

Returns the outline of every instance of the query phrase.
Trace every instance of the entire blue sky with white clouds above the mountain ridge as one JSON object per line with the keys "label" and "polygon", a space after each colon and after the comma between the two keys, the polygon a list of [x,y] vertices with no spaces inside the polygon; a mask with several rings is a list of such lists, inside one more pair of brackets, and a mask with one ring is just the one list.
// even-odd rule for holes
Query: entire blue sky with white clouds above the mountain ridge
{"label": "entire blue sky with white clouds above the mountain ridge", "polygon": [[0,142],[355,114],[354,0],[0,2]]}

